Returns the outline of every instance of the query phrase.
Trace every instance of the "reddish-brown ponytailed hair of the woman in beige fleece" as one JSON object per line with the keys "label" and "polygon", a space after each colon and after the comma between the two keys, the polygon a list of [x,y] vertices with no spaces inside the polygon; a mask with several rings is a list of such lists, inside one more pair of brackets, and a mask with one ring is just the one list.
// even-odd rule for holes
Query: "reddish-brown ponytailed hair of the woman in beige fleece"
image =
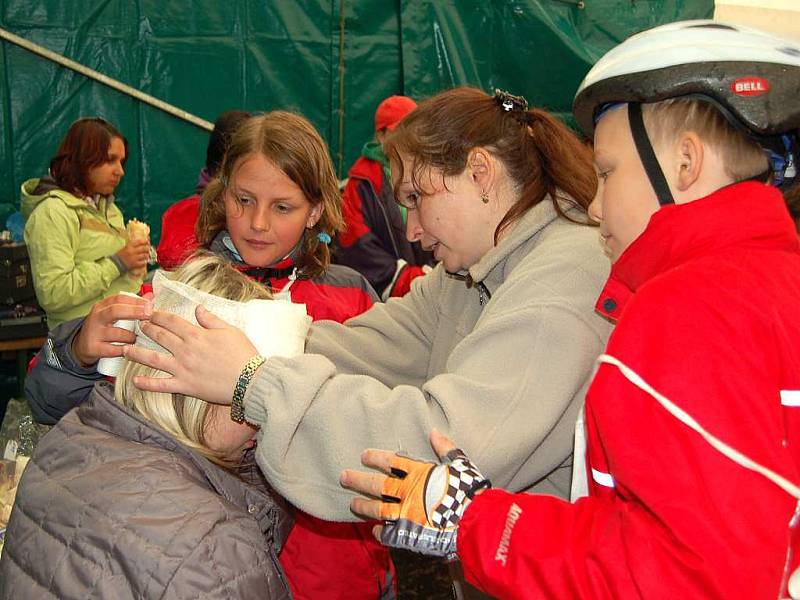
{"label": "reddish-brown ponytailed hair of the woman in beige fleece", "polygon": [[519,199],[495,231],[500,234],[530,208],[549,197],[558,214],[563,201],[585,212],[597,190],[592,154],[577,136],[547,112],[533,108],[505,111],[501,103],[469,87],[442,92],[422,102],[384,143],[392,168],[403,178],[403,161],[412,161],[412,182],[434,168],[443,177],[463,172],[470,150],[486,148],[505,165]]}

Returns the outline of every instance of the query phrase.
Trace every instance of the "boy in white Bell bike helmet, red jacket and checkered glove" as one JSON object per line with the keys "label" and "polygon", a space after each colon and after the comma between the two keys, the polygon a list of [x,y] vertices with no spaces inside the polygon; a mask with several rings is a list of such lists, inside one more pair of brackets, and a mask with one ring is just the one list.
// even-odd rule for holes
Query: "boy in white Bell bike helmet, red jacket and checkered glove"
{"label": "boy in white Bell bike helmet, red jacket and checkered glove", "polygon": [[618,324],[575,459],[588,497],[484,492],[434,432],[442,465],[369,450],[388,477],[342,476],[383,496],[352,504],[382,539],[457,554],[502,598],[800,597],[800,241],[776,187],[799,86],[796,44],[712,21],[594,66],[574,111],[613,262],[597,308]]}

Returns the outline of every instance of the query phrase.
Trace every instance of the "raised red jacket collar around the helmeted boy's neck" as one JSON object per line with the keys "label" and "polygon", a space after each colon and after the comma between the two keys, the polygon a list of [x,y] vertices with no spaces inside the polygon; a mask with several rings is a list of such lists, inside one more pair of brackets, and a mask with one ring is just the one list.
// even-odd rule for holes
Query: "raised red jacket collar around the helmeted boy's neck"
{"label": "raised red jacket collar around the helmeted boy's neck", "polygon": [[633,294],[657,275],[743,245],[800,250],[794,223],[776,188],[745,181],[688,204],[664,206],[614,263],[595,308],[616,320]]}

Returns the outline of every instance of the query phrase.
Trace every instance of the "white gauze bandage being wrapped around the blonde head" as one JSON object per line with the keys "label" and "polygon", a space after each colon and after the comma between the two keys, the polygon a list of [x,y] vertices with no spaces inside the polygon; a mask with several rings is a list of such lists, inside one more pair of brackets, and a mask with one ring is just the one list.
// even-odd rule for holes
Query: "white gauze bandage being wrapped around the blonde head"
{"label": "white gauze bandage being wrapped around the blonde head", "polygon": [[[241,329],[262,356],[297,356],[305,349],[311,317],[305,304],[285,300],[235,302],[201,292],[185,283],[172,281],[162,271],[153,277],[153,310],[170,312],[197,325],[195,309],[202,304],[209,312]],[[147,337],[138,321],[117,321],[116,327],[136,332],[136,346],[169,354],[166,348]],[[101,358],[98,372],[116,377],[124,358]],[[209,365],[210,367],[210,365]]]}

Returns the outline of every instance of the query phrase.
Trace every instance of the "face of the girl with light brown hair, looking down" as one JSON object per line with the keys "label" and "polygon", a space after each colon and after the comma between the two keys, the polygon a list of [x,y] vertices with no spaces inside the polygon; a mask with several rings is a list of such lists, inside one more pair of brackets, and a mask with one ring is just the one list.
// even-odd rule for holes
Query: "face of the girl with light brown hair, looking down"
{"label": "face of the girl with light brown hair, looking down", "polygon": [[322,203],[312,205],[262,154],[242,158],[225,190],[228,233],[242,259],[254,267],[280,262],[321,215]]}

